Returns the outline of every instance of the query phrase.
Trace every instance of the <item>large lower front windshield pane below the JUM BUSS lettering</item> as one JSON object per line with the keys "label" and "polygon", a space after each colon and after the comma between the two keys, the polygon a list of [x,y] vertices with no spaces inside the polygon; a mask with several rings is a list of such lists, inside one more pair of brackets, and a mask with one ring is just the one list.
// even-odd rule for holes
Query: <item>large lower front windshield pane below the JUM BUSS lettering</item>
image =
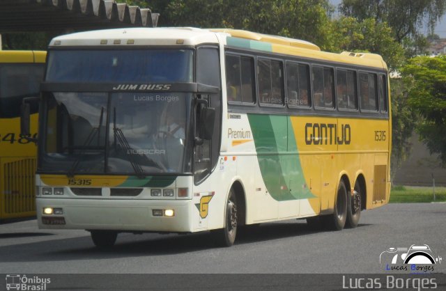
{"label": "large lower front windshield pane below the JUM BUSS lettering", "polygon": [[191,93],[45,93],[44,100],[43,171],[191,171]]}

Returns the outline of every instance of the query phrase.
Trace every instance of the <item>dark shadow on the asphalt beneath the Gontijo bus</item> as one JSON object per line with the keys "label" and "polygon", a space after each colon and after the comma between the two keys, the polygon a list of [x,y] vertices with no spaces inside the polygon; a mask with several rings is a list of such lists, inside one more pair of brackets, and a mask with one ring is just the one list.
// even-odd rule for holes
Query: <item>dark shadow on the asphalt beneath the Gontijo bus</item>
{"label": "dark shadow on the asphalt beneath the Gontijo bus", "polygon": [[[358,227],[364,226],[367,226],[367,224],[361,224]],[[295,239],[305,235],[317,237],[323,232],[323,230],[310,230],[305,221],[262,223],[256,226],[240,227],[236,244],[232,247],[237,248],[243,244],[259,244],[272,239],[286,239],[287,237]],[[10,235],[18,235],[17,237],[19,237],[20,233]],[[32,235],[31,233],[23,233],[23,236],[26,235],[51,234],[36,233]],[[112,249],[100,250],[93,246],[90,236],[86,235],[84,237],[49,239],[43,242],[1,246],[0,258],[3,262],[45,262],[126,258],[135,255],[169,255],[220,248],[214,239],[215,237],[209,232],[187,235],[160,235],[154,233],[132,235],[123,233],[118,235],[116,245]]]}

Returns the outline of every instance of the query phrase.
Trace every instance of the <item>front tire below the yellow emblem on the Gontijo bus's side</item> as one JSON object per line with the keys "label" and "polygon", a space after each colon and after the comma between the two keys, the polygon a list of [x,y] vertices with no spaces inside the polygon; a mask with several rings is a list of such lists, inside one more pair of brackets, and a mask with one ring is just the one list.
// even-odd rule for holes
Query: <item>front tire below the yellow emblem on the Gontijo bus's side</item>
{"label": "front tire below the yellow emblem on the Gontijo bus's side", "polygon": [[229,191],[225,209],[224,227],[217,231],[217,239],[223,246],[232,246],[237,234],[237,199],[233,189]]}

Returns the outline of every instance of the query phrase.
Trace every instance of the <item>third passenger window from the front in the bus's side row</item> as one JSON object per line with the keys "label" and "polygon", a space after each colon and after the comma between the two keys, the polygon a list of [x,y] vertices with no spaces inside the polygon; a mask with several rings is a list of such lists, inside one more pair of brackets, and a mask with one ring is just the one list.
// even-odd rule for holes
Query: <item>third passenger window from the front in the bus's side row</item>
{"label": "third passenger window from the front in the bus's side row", "polygon": [[309,107],[309,66],[286,64],[286,104],[289,107]]}

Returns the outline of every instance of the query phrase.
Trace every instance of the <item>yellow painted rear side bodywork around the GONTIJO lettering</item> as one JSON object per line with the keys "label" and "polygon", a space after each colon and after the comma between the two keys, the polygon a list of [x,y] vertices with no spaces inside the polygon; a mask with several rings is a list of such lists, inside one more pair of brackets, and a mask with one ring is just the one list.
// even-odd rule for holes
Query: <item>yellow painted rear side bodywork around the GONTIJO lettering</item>
{"label": "yellow painted rear side bodywork around the GONTIJO lettering", "polygon": [[[335,195],[339,181],[346,176],[353,191],[359,175],[366,183],[367,209],[372,209],[388,202],[390,196],[390,139],[389,120],[364,118],[332,118],[291,116],[291,125],[298,146],[303,175],[312,194],[320,199],[310,199],[315,213],[330,213],[334,208]],[[306,125],[337,125],[337,132],[332,127],[323,130]],[[342,139],[342,125],[348,125],[349,144],[339,144],[334,139]],[[320,131],[319,131],[320,132]],[[385,132],[385,140],[376,140],[375,132]],[[311,140],[311,144],[310,143]],[[382,173],[380,173],[382,171]],[[348,185],[346,185],[348,187]],[[320,203],[320,204],[318,204]]]}

